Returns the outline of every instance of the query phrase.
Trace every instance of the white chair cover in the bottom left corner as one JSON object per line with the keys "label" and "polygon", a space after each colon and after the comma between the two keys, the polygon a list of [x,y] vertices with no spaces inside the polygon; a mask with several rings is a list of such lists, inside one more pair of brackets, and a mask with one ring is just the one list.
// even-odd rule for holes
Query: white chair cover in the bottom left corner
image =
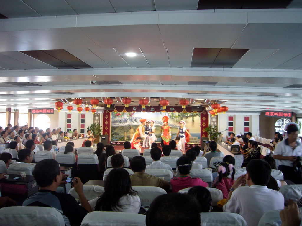
{"label": "white chair cover in the bottom left corner", "polygon": [[11,206],[0,209],[0,220],[5,226],[51,225],[65,226],[62,214],[55,208]]}

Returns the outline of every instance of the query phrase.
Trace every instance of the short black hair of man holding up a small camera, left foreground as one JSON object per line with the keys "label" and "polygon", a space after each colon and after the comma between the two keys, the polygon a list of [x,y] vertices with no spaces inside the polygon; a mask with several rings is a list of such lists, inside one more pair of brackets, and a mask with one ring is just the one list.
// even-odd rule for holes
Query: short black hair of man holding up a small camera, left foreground
{"label": "short black hair of man holding up a small camera, left foreground", "polygon": [[33,170],[33,176],[39,187],[50,186],[56,176],[60,174],[59,164],[54,159],[44,159],[37,162]]}

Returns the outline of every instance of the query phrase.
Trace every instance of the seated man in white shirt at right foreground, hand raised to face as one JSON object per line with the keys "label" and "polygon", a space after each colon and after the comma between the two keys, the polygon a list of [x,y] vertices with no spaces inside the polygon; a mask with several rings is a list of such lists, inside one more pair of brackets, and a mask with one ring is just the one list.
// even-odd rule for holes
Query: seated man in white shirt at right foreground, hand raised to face
{"label": "seated man in white shirt at right foreground, hand raised to face", "polygon": [[[251,160],[246,172],[232,185],[223,212],[238,213],[248,226],[257,226],[265,212],[284,208],[284,197],[280,192],[267,188],[271,167],[264,160]],[[246,183],[249,186],[240,187]]]}

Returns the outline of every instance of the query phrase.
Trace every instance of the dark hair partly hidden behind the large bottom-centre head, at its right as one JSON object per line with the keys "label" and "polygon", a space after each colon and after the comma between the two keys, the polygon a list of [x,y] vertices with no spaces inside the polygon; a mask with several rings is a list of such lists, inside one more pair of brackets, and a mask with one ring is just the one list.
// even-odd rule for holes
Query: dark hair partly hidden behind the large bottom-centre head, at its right
{"label": "dark hair partly hidden behind the large bottom-centre head, at its right", "polygon": [[202,186],[194,186],[188,190],[188,195],[195,198],[199,203],[199,212],[209,212],[212,206],[212,196],[209,190]]}

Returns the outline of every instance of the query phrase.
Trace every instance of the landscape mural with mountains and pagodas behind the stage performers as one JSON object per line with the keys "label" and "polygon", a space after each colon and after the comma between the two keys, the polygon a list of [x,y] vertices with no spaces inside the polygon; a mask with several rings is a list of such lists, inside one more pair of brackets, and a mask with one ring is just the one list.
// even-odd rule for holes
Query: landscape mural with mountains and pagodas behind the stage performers
{"label": "landscape mural with mountains and pagodas behind the stage performers", "polygon": [[113,111],[111,112],[111,141],[130,141],[133,133],[140,125],[140,119],[155,121],[155,136],[156,142],[161,141],[160,127],[163,125],[162,117],[167,115],[169,117],[169,126],[171,127],[172,139],[176,137],[179,127],[179,121],[185,121],[185,127],[189,130],[192,137],[189,143],[200,143],[201,136],[201,115],[200,112],[178,113],[178,112],[125,112]]}

